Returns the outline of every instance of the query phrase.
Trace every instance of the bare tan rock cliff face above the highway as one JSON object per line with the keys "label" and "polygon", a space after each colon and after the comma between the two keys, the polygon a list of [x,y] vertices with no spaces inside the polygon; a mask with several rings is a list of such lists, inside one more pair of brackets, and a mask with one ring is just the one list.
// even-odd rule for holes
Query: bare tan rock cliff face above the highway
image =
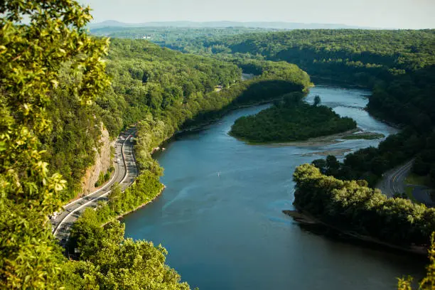
{"label": "bare tan rock cliff face above the highway", "polygon": [[85,195],[95,191],[95,183],[98,181],[100,172],[106,173],[112,165],[112,161],[110,160],[110,147],[114,146],[114,141],[110,141],[109,132],[103,126],[101,127],[100,144],[100,153],[98,153],[96,148],[94,149],[95,164],[87,168],[85,176],[82,178],[82,194],[84,193]]}

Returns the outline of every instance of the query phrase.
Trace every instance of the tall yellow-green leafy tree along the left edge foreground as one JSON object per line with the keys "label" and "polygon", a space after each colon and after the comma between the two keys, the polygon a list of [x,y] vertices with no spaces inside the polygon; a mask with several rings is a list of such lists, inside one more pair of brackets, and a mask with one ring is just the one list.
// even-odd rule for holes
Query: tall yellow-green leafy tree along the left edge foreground
{"label": "tall yellow-green leafy tree along the left edge foreground", "polygon": [[72,0],[1,1],[0,15],[0,288],[59,288],[47,216],[65,181],[43,161],[46,108],[67,61],[78,80],[70,94],[89,104],[102,92],[107,41],[87,36],[90,9]]}

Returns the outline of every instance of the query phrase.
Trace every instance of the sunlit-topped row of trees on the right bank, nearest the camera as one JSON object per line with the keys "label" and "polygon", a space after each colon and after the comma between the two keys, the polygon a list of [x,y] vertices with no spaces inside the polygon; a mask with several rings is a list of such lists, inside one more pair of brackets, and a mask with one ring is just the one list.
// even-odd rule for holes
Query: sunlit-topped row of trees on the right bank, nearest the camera
{"label": "sunlit-topped row of trees on the right bank, nearest the camera", "polygon": [[435,209],[403,198],[387,198],[365,181],[341,181],[304,164],[294,172],[294,205],[345,230],[394,245],[429,245]]}

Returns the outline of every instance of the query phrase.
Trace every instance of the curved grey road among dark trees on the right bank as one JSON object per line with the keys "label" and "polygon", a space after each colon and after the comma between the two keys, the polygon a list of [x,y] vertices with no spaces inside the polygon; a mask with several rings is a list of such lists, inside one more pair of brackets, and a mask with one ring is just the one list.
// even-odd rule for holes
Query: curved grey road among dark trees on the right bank
{"label": "curved grey road among dark trees on the right bank", "polygon": [[414,159],[404,163],[402,166],[396,167],[383,174],[382,181],[380,181],[376,188],[382,190],[382,193],[392,198],[394,193],[405,192],[405,178],[411,171]]}

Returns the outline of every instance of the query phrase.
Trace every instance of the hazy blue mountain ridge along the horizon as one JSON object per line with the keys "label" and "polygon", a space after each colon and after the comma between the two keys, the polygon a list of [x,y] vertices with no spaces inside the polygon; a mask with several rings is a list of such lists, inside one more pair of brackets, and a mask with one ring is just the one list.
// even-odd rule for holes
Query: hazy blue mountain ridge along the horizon
{"label": "hazy blue mountain ridge along the horizon", "polygon": [[[282,21],[154,21],[144,23],[123,23],[115,20],[107,20],[100,23],[90,23],[90,29],[102,27],[252,27],[252,28],[275,28],[275,29],[382,29],[365,26],[349,26],[339,23],[296,23]],[[383,28],[385,29],[385,28]]]}

